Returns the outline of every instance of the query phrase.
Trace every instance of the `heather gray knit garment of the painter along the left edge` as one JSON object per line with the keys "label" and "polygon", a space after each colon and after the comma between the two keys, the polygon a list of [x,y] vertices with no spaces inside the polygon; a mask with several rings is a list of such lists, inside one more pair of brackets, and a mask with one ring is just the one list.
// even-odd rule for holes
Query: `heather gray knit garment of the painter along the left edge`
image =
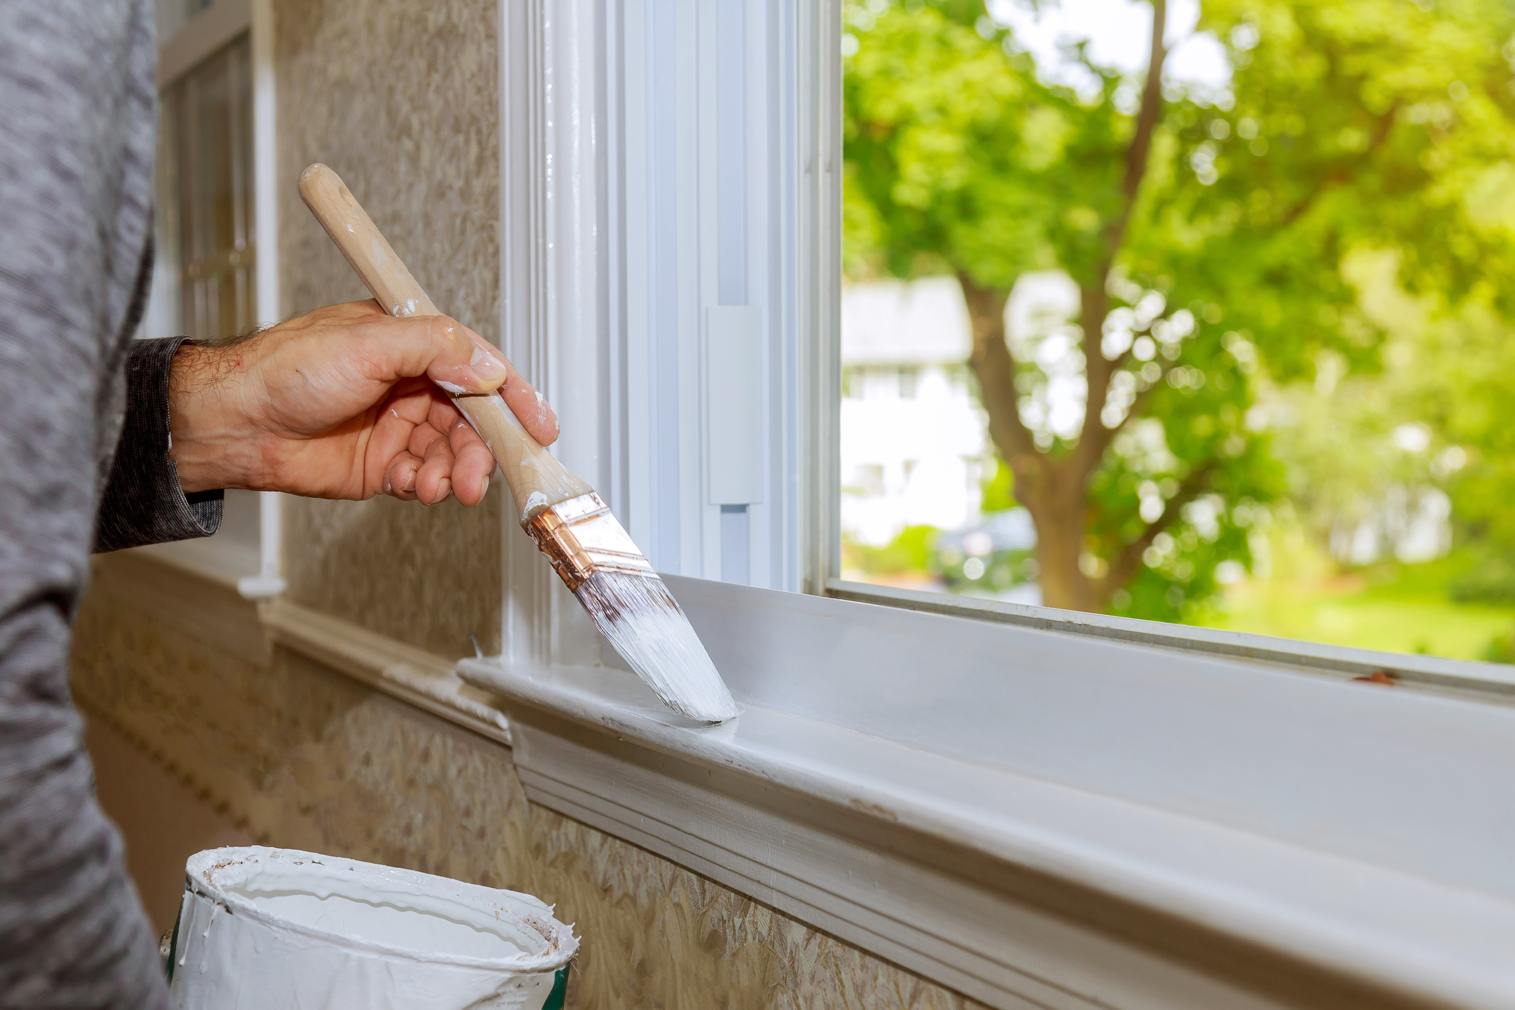
{"label": "heather gray knit garment of the painter along the left edge", "polygon": [[0,1010],[171,1007],[68,690],[152,230],[155,61],[148,0],[0,2]]}

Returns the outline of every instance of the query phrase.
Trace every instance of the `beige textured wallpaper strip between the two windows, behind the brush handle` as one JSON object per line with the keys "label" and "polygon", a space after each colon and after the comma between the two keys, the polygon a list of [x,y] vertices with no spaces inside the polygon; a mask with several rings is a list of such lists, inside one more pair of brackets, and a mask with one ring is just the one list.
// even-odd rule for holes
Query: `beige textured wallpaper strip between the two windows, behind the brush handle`
{"label": "beige textured wallpaper strip between the two windows, behind the brush handle", "polygon": [[[274,3],[285,313],[368,297],[300,201],[326,162],[442,312],[498,339],[497,9],[471,0]],[[441,656],[498,651],[500,503],[286,498],[289,595]]]}

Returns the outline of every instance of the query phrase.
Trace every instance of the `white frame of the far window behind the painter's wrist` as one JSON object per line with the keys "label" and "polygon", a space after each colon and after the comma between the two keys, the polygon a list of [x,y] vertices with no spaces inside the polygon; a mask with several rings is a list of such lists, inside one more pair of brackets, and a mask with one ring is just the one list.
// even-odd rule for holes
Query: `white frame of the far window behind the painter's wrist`
{"label": "white frame of the far window behind the painter's wrist", "polygon": [[[253,245],[258,323],[280,318],[279,304],[279,223],[277,165],[274,132],[274,64],[273,64],[273,0],[215,0],[194,15],[185,17],[186,5],[158,3],[158,89],[164,92],[186,73],[198,67],[242,35],[250,36],[251,104],[253,104]],[[176,194],[159,185],[159,203]],[[173,242],[159,239],[153,291],[144,316],[142,336],[173,336],[180,333],[177,312],[179,263],[171,259]],[[248,492],[251,494],[251,492]],[[148,548],[165,560],[189,566],[236,586],[248,600],[276,597],[285,589],[279,560],[279,495],[256,492],[258,527],[253,544],[229,536],[211,536],[180,544]]]}

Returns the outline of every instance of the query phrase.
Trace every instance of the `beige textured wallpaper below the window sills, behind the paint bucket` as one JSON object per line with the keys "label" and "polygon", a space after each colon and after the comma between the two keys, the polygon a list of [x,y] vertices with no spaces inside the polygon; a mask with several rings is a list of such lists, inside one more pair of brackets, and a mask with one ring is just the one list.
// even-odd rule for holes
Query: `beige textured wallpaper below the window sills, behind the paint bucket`
{"label": "beige textured wallpaper below the window sills, behind the paint bucket", "polygon": [[289,653],[212,648],[109,563],[74,695],[261,842],[509,887],[583,937],[580,1010],[973,1010],[717,883],[535,807],[511,751]]}

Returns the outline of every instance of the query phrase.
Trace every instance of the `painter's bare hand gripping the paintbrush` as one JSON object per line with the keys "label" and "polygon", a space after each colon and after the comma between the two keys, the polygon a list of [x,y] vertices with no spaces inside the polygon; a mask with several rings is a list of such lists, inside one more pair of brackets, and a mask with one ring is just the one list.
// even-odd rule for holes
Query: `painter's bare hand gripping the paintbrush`
{"label": "painter's bare hand gripping the paintbrush", "polygon": [[494,457],[436,383],[501,388],[542,445],[558,418],[504,356],[448,316],[326,306],[226,345],[183,345],[170,374],[171,456],[185,492],[389,494],[477,504]]}

